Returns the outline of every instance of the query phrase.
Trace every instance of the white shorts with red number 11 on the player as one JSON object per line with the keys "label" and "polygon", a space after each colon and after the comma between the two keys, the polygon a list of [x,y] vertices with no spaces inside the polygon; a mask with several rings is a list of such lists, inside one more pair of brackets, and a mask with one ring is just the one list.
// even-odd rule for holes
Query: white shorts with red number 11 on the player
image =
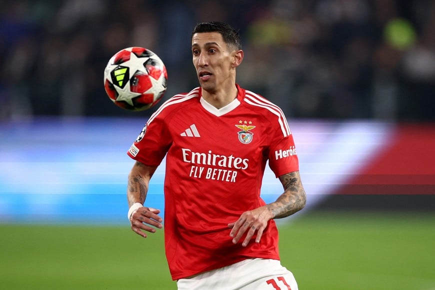
{"label": "white shorts with red number 11 on the player", "polygon": [[253,258],[179,279],[178,290],[297,290],[293,274],[278,260]]}

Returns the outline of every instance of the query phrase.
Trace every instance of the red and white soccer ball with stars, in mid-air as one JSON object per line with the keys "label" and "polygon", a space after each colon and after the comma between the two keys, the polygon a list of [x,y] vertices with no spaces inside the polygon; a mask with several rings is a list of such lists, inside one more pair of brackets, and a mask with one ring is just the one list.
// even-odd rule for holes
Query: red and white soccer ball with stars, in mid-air
{"label": "red and white soccer ball with stars, in mid-air", "polygon": [[116,52],[104,69],[104,89],[117,106],[141,111],[154,106],[166,91],[163,61],[149,49],[128,47]]}

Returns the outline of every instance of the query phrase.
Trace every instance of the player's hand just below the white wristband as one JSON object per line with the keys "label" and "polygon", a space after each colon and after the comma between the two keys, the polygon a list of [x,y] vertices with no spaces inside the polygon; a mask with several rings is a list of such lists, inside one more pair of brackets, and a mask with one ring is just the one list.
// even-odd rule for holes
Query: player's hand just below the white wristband
{"label": "player's hand just below the white wristband", "polygon": [[158,213],[160,213],[160,209],[146,206],[137,208],[130,216],[131,229],[143,237],[146,237],[146,233],[142,230],[155,232],[155,228],[151,227],[150,225],[157,228],[162,227],[162,219],[157,215]]}

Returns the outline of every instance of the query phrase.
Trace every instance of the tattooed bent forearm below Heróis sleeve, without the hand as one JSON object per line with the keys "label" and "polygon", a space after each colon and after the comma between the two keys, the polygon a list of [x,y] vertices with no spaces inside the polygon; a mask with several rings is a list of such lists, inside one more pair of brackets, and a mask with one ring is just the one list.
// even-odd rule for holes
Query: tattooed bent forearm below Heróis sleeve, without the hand
{"label": "tattooed bent forearm below Her\u00f3is sleeve, without the hand", "polygon": [[268,204],[274,218],[291,215],[305,206],[306,194],[300,181],[298,171],[279,176],[284,192],[275,202]]}

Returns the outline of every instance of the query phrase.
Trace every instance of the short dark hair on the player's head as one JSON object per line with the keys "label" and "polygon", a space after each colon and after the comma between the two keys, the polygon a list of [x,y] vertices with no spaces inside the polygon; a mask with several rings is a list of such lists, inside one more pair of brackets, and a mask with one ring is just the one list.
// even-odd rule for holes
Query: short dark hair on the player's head
{"label": "short dark hair on the player's head", "polygon": [[193,34],[201,32],[219,32],[226,44],[241,49],[240,34],[231,25],[225,22],[210,21],[198,23],[193,28],[192,37]]}

